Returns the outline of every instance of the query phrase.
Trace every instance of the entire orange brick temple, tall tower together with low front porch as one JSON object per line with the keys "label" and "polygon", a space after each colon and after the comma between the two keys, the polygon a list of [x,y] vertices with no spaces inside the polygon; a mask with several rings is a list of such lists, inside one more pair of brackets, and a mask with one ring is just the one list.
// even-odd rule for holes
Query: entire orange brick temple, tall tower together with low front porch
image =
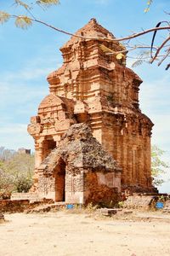
{"label": "entire orange brick temple, tall tower together with low front porch", "polygon": [[[94,19],[76,34],[115,38]],[[101,198],[105,201],[106,194],[112,194],[114,189],[143,192],[154,189],[150,173],[153,124],[139,109],[139,85],[142,80],[126,67],[125,57],[117,60],[116,55],[107,55],[104,46],[115,52],[126,50],[116,41],[72,37],[60,49],[64,59],[62,67],[48,75],[49,95],[42,100],[37,116],[32,117],[28,125],[36,150],[34,187],[31,190],[37,191],[40,196],[51,196],[55,201],[79,202],[88,201],[93,194],[93,201],[100,201]],[[87,126],[75,124],[90,127],[93,137],[100,143],[100,150],[105,151],[105,157],[110,154],[111,168],[108,169],[106,165],[99,168],[99,162],[93,169],[90,161],[88,167],[84,166],[83,161],[80,161],[79,167],[76,166],[74,155],[79,154],[80,151],[76,151],[82,148],[77,147],[76,150],[73,147],[71,154],[71,149],[65,144],[67,140],[71,145],[68,134],[68,137],[62,138],[71,125],[75,134],[82,132],[83,135],[88,129]],[[91,131],[85,132],[86,135],[91,137]],[[72,136],[72,140],[77,141],[78,145],[82,138]],[[88,137],[85,141],[87,145]],[[67,148],[67,158],[58,151],[62,143]],[[95,147],[98,148],[96,143],[94,151]],[[91,154],[95,160],[93,150]],[[50,169],[53,157],[54,165]],[[74,168],[68,164],[68,159],[76,161]],[[122,175],[118,166],[122,169]],[[104,192],[106,190],[107,193]]]}

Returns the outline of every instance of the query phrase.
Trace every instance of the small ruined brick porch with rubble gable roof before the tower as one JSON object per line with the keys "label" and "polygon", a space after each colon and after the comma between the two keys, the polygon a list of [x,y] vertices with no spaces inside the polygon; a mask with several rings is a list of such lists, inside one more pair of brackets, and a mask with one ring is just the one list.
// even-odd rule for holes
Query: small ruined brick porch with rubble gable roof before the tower
{"label": "small ruined brick porch with rubble gable roof before the tower", "polygon": [[94,194],[109,201],[106,191],[111,195],[121,192],[121,168],[83,123],[71,125],[37,171],[40,198],[87,204]]}

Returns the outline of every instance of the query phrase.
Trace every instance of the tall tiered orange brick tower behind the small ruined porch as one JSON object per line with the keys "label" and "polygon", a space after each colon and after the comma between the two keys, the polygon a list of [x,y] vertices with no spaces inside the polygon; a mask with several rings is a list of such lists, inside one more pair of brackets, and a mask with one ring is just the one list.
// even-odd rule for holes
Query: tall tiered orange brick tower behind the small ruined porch
{"label": "tall tiered orange brick tower behind the small ruined porch", "polygon": [[49,95],[28,126],[35,139],[35,183],[38,166],[58,146],[65,131],[73,124],[86,123],[105,151],[122,167],[122,189],[152,191],[153,124],[139,108],[142,80],[126,67],[126,58],[117,60],[116,55],[105,53],[104,46],[115,52],[126,49],[116,41],[97,39],[115,37],[95,19],[76,35],[88,39],[72,37],[61,47],[63,65],[48,75]]}

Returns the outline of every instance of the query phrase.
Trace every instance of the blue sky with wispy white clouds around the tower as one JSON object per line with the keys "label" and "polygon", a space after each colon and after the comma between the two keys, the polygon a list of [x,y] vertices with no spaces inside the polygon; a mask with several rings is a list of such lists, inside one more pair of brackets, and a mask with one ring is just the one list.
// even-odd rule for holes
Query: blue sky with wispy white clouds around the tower
{"label": "blue sky with wispy white clouds around the tower", "polygon": [[[169,0],[154,1],[148,14],[144,14],[146,0],[60,2],[59,6],[46,12],[35,9],[34,15],[69,32],[76,32],[95,17],[118,38],[156,26],[158,21],[168,19],[164,10],[169,11]],[[12,3],[12,0],[1,0],[0,9],[20,13],[19,9],[11,7]],[[62,33],[37,24],[26,31],[16,28],[14,20],[0,26],[0,146],[33,150],[34,143],[26,126],[30,117],[37,114],[43,96],[48,94],[46,77],[61,65],[59,47],[68,39]],[[138,40],[150,43],[149,36]],[[132,59],[127,60],[128,67],[132,63]],[[164,67],[144,64],[133,70],[144,80],[140,89],[140,108],[155,124],[152,143],[167,151],[163,160],[170,162],[170,73]],[[168,173],[165,178],[169,178]],[[170,192],[170,183],[164,183],[161,191]]]}

